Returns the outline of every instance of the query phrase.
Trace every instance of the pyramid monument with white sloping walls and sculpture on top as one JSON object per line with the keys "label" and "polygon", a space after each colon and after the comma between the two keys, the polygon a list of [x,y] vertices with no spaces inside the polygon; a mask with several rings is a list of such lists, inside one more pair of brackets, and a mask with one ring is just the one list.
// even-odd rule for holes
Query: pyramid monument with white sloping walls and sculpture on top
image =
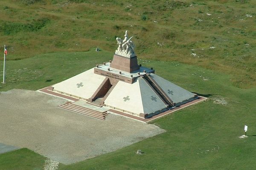
{"label": "pyramid monument with white sloping walls and sculpture on top", "polygon": [[131,39],[126,31],[123,40],[116,38],[112,61],[52,85],[52,91],[144,119],[198,98],[138,65]]}

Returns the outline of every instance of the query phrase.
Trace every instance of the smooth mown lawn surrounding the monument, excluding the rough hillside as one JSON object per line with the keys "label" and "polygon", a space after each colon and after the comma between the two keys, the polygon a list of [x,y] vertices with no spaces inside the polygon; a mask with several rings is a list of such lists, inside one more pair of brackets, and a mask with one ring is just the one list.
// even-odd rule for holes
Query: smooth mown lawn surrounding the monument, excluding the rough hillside
{"label": "smooth mown lawn surrounding the monument, excluding the rough hillside", "polygon": [[[79,74],[96,63],[108,61],[112,55],[107,51],[96,52],[92,49],[87,52],[40,54],[29,59],[8,61],[7,84],[3,90],[43,88]],[[256,96],[253,94],[256,88],[237,88],[230,75],[198,66],[140,58],[139,62],[154,67],[156,74],[189,91],[207,96],[209,100],[152,122],[167,130],[166,133],[94,159],[61,164],[60,170],[249,170],[255,167],[256,136],[253,135],[256,135],[256,115],[253,108]],[[170,76],[170,73],[173,74]],[[34,79],[26,81],[32,75]],[[227,105],[215,104],[215,98],[225,100]],[[250,137],[239,139],[244,134],[244,124],[249,126],[247,135]],[[145,153],[135,154],[138,149]],[[0,169],[12,164],[10,161],[3,162]],[[15,162],[23,166],[23,160]]]}

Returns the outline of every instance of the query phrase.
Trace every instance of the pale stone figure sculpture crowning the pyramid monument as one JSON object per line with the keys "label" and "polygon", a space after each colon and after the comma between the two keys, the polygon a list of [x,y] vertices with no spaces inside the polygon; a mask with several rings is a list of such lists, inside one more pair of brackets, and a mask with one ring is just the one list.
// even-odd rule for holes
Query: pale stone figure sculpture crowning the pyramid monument
{"label": "pale stone figure sculpture crowning the pyramid monument", "polygon": [[128,39],[127,32],[128,31],[125,31],[125,39],[124,40],[122,40],[119,37],[116,38],[116,41],[117,41],[117,44],[118,44],[116,54],[124,56],[124,57],[131,58],[131,57],[136,56],[136,54],[134,52],[135,46],[134,46],[133,42],[131,41],[132,37]]}

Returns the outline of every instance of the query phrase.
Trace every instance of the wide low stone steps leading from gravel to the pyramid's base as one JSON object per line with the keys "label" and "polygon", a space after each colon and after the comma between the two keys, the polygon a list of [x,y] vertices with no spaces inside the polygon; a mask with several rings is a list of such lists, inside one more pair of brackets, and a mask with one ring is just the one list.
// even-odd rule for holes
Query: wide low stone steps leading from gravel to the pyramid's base
{"label": "wide low stone steps leading from gravel to the pyramid's base", "polygon": [[95,110],[92,110],[92,109],[89,109],[89,108],[84,108],[84,107],[79,106],[79,105],[74,105],[73,103],[70,103],[70,102],[68,102],[64,105],[59,105],[58,107],[64,108],[64,109],[67,109],[67,110],[70,110],[70,111],[75,111],[75,112],[78,112],[78,113],[82,113],[84,115],[91,116],[91,117],[94,117],[94,118],[98,118],[98,119],[101,119],[101,120],[105,120],[105,117],[108,114],[107,111],[104,111],[104,112],[95,111]]}

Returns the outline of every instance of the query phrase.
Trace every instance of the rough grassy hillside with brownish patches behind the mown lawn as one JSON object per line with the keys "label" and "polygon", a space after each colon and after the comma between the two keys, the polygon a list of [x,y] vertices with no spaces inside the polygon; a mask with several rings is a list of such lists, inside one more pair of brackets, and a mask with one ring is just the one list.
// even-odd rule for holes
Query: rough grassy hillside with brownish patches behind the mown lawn
{"label": "rough grassy hillside with brownish patches behind the mown lawn", "polygon": [[114,52],[128,30],[139,57],[224,71],[251,88],[255,8],[254,0],[1,0],[1,49],[8,60],[96,46]]}

